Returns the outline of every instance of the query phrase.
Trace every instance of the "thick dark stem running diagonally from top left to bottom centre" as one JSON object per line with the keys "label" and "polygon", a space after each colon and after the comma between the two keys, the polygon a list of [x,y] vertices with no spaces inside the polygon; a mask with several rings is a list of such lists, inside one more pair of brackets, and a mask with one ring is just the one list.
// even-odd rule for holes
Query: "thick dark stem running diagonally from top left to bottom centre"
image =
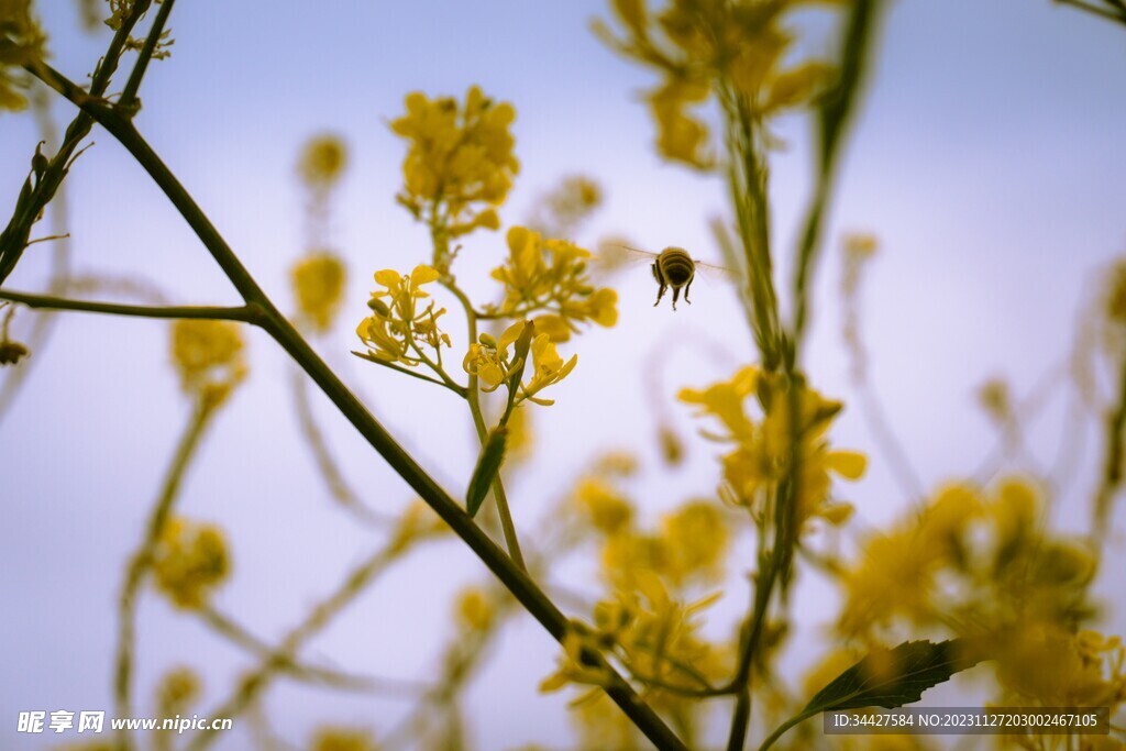
{"label": "thick dark stem running diagonally from top left to bottom centre", "polygon": [[[277,310],[266,293],[250,276],[226,241],[195,203],[176,176],[152,151],[136,128],[111,109],[90,101],[83,91],[47,65],[38,65],[30,72],[70,99],[75,106],[90,113],[123,146],[177,208],[180,215],[199,238],[212,258],[223,269],[231,284],[248,304],[257,304],[265,315],[258,322],[278,345],[305,370],[325,396],[365,440],[384,458],[403,481],[413,489],[426,503],[445,521],[454,533],[481,558],[490,571],[512,592],[520,605],[551,634],[562,642],[568,632],[566,617],[540,590],[528,574],[493,543],[476,522],[446,493],[434,479],[391,437],[370,412],[356,399],[339,377],[324,364],[316,352],[302,339],[301,334]],[[636,691],[598,655],[599,667],[611,677],[606,687],[607,695],[629,717],[637,728],[661,751],[683,750],[685,745],[668,725],[645,704]]]}

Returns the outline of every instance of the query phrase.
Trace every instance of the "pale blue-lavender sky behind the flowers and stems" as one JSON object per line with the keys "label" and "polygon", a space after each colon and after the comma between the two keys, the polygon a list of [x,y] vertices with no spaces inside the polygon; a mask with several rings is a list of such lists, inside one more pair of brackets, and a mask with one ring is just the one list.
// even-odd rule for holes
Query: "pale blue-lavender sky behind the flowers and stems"
{"label": "pale blue-lavender sky behind the flowers and stems", "polygon": [[[70,2],[43,2],[41,12],[54,64],[81,80],[106,34],[79,34]],[[181,1],[171,23],[173,55],[154,64],[142,90],[138,127],[284,306],[287,268],[302,250],[296,152],[324,129],[348,141],[352,162],[339,190],[334,233],[352,271],[350,298],[325,349],[334,349],[332,357],[363,387],[373,411],[455,494],[476,454],[464,408],[347,356],[370,274],[426,258],[425,231],[392,202],[403,147],[386,122],[406,92],[461,95],[480,83],[516,106],[522,169],[502,212],[506,224],[526,216],[560,177],[584,172],[602,184],[608,203],[581,242],[624,233],[644,248],[682,245],[717,258],[707,218],[723,206],[722,187],[655,157],[652,124],[638,101],[653,79],[589,33],[589,20],[605,14],[602,3],[587,0]],[[69,119],[71,109],[59,102],[55,114]],[[1026,393],[1056,366],[1089,295],[1084,285],[1126,250],[1124,125],[1126,29],[1047,0],[894,3],[825,235],[807,355],[816,385],[848,400],[837,240],[846,230],[875,232],[882,249],[865,299],[873,378],[929,485],[972,472],[992,446],[974,390],[989,376],[1006,375]],[[806,123],[785,120],[779,133],[789,144],[774,166],[776,247],[785,256],[808,186]],[[0,134],[0,206],[10,207],[38,135],[29,118],[7,114]],[[175,290],[178,302],[235,302],[146,176],[107,134],[96,129],[93,140],[97,146],[69,178],[75,267],[141,275]],[[37,248],[11,287],[43,284],[46,253]],[[502,235],[468,243],[462,278],[471,289],[489,289],[486,270],[501,254]],[[788,268],[785,259],[779,265]],[[579,368],[558,387],[557,404],[537,415],[547,458],[512,488],[526,529],[595,452],[633,446],[654,462],[652,406],[637,386],[653,348],[707,334],[733,357],[750,352],[725,290],[698,285],[694,306],[652,309],[652,279],[641,267],[620,292],[619,324],[578,340]],[[461,332],[453,332],[457,343]],[[289,364],[257,333],[250,348],[249,385],[214,426],[181,509],[229,531],[234,578],[220,602],[272,637],[330,589],[373,537],[349,526],[321,491],[288,409]],[[50,349],[35,355],[19,403],[0,423],[8,509],[0,527],[8,572],[0,601],[9,614],[0,644],[5,672],[16,677],[0,691],[5,748],[45,746],[45,739],[29,743],[11,734],[21,709],[110,705],[108,654],[122,564],[187,419],[166,349],[160,323],[63,318]],[[670,357],[669,396],[680,385],[726,375],[686,351]],[[350,477],[373,502],[401,507],[409,499],[402,483],[323,400],[316,405]],[[1048,458],[1062,412],[1057,399],[1035,426],[1036,447]],[[694,429],[685,410],[673,408],[673,414],[686,433]],[[872,449],[855,411],[834,435],[841,446]],[[1097,461],[1094,448],[1088,441],[1088,464]],[[714,449],[695,442],[691,450],[688,470],[654,471],[638,483],[652,518],[714,485]],[[878,459],[847,495],[857,502],[860,524],[902,509]],[[1120,535],[1114,544],[1120,554]],[[423,674],[449,635],[447,596],[483,575],[455,545],[426,551],[349,610],[312,653],[359,671]],[[714,633],[726,634],[738,618],[742,587],[730,585],[715,610]],[[824,611],[811,602],[823,593],[815,584],[805,591],[797,605],[810,608],[804,623],[815,636]],[[1121,631],[1120,593],[1114,599]],[[142,696],[163,668],[196,650],[207,655],[206,662],[194,660],[208,679],[205,707],[247,665],[157,598],[142,608],[141,634]],[[554,647],[538,626],[521,620],[506,632],[495,660],[470,696],[480,748],[558,737],[566,696],[535,692],[554,664]],[[497,695],[506,697],[503,713],[491,703]],[[296,742],[320,721],[385,730],[403,706],[285,685],[268,701],[278,731]],[[232,736],[220,748],[241,744]]]}

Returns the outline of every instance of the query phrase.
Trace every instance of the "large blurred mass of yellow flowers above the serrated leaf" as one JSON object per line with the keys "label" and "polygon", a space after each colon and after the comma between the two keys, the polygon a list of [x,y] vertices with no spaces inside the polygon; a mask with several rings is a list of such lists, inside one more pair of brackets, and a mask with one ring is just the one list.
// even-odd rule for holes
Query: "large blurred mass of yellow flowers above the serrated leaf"
{"label": "large blurred mass of yellow flowers above the serrated leaf", "polygon": [[843,576],[838,631],[864,641],[896,627],[953,629],[991,656],[1004,700],[1042,706],[1126,701],[1118,637],[1080,631],[1094,610],[1096,557],[1049,536],[1036,489],[1006,480],[990,493],[939,492],[921,513],[865,545]]}

